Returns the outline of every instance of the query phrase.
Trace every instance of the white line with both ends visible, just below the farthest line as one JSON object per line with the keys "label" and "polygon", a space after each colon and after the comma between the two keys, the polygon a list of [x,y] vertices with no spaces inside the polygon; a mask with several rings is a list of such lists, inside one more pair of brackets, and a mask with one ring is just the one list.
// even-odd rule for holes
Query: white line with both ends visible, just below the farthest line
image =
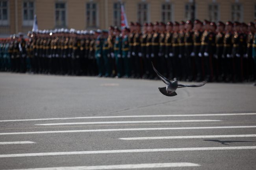
{"label": "white line with both ends visible, just below the farthest line", "polygon": [[70,123],[43,123],[35,125],[52,126],[67,124],[121,124],[121,123],[173,123],[173,122],[220,122],[221,120],[171,120],[171,121],[112,121],[112,122],[70,122]]}

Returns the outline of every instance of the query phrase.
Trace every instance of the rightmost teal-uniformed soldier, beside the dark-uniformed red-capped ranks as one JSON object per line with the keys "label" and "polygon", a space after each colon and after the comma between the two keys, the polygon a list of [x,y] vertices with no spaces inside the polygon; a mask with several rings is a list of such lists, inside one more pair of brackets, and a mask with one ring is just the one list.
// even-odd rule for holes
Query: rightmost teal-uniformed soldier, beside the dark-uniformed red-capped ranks
{"label": "rightmost teal-uniformed soldier, beside the dark-uniformed red-capped ranks", "polygon": [[128,78],[131,75],[130,63],[128,62],[128,52],[129,52],[129,38],[130,37],[130,29],[125,27],[122,30],[122,58],[124,61],[124,77]]}

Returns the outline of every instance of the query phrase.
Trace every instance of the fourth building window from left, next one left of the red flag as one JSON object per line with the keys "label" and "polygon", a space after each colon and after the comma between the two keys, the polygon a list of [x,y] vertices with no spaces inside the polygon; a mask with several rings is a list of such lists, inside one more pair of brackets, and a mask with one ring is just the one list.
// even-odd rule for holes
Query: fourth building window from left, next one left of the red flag
{"label": "fourth building window from left, next one left of the red flag", "polygon": [[86,4],[86,21],[87,27],[97,27],[97,4],[96,3],[87,3]]}

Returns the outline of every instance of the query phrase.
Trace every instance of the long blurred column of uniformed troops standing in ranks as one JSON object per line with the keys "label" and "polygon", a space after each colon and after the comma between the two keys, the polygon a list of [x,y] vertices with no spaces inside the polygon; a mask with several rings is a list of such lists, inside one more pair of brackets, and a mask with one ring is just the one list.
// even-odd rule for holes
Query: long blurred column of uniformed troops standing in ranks
{"label": "long blurred column of uniformed troops standing in ranks", "polygon": [[55,29],[0,40],[0,71],[241,82],[256,79],[255,23],[130,22],[122,31]]}

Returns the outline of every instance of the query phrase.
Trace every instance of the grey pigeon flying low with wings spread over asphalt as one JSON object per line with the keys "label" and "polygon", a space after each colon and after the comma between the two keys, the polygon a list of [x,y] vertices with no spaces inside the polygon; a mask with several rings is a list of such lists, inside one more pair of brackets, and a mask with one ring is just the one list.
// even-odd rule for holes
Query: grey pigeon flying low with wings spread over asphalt
{"label": "grey pigeon flying low with wings spread over asphalt", "polygon": [[[152,63],[152,62],[151,62]],[[177,88],[185,88],[185,87],[201,87],[204,86],[204,84],[206,84],[206,81],[203,81],[197,85],[185,85],[185,84],[178,84],[178,81],[174,80],[174,81],[170,81],[167,78],[163,77],[163,75],[161,75],[156,68],[154,67],[153,63],[152,63],[153,69],[156,72],[156,74],[158,75],[158,77],[165,83],[167,84],[166,87],[163,88],[158,88],[159,91],[166,96],[176,96],[177,93],[175,92],[177,90]]]}

